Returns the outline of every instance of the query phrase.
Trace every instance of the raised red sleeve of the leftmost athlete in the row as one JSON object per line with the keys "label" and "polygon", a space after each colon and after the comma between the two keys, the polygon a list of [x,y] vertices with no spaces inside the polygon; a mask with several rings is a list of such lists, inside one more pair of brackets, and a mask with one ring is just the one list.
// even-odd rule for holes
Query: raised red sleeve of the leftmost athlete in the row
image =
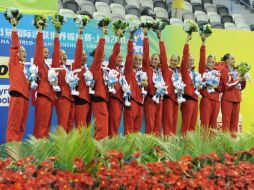
{"label": "raised red sleeve of the leftmost athlete in the row", "polygon": [[10,61],[9,64],[18,64],[19,63],[19,37],[17,31],[12,31],[11,33],[11,50],[10,50]]}

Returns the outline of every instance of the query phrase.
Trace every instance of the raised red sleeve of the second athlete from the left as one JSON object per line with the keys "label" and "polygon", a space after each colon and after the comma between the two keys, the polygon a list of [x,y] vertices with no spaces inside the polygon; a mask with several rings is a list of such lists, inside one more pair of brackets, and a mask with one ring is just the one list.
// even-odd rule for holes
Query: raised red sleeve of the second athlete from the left
{"label": "raised red sleeve of the second athlete from the left", "polygon": [[40,69],[44,67],[44,57],[43,57],[43,33],[38,32],[36,36],[36,46],[34,52],[34,64]]}

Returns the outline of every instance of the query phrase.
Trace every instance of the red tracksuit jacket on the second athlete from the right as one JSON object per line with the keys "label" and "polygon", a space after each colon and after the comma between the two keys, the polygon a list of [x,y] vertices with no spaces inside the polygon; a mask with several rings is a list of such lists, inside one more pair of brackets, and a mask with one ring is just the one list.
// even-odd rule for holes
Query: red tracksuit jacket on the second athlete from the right
{"label": "red tracksuit jacket on the second athlete from the right", "polygon": [[[206,68],[206,46],[201,46],[200,48],[200,60],[199,60],[199,67],[198,67],[199,73],[203,75],[207,68]],[[209,98],[210,100],[213,101],[220,101],[220,91],[221,87],[219,86],[218,88],[215,89],[215,92],[208,93],[207,88],[203,88],[200,90],[200,93],[202,96]]]}

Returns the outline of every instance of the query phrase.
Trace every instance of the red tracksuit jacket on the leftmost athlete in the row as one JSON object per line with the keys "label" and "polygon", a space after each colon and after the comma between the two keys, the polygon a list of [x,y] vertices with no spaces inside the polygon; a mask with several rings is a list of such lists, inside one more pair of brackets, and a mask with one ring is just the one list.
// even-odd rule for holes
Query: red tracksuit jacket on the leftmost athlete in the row
{"label": "red tracksuit jacket on the leftmost athlete in the row", "polygon": [[24,74],[24,65],[19,61],[19,37],[18,33],[12,32],[12,46],[10,52],[9,61],[9,79],[10,79],[10,90],[9,93],[18,92],[25,98],[29,99],[30,96],[30,85],[26,80]]}

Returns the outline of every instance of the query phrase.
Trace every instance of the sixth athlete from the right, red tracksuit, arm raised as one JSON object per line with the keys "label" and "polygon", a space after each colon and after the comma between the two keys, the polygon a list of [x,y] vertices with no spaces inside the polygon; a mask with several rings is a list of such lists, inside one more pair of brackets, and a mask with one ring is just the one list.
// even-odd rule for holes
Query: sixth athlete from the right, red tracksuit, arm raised
{"label": "sixth athlete from the right, red tracksuit, arm raised", "polygon": [[[143,112],[143,95],[141,94],[136,72],[142,64],[142,55],[136,54],[133,56],[133,34],[128,41],[128,52],[126,56],[124,75],[128,84],[131,86],[131,106],[124,106],[124,134],[128,135],[132,132],[139,132],[142,126]],[[146,83],[146,84],[145,84]],[[143,85],[147,85],[144,82]]]}

